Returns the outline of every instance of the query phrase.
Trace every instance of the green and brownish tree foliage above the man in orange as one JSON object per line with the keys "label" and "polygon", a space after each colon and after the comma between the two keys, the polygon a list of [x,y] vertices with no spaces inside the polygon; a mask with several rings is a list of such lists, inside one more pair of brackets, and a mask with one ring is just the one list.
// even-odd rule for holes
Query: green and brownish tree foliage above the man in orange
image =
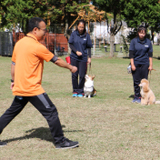
{"label": "green and brownish tree foliage above the man in orange", "polygon": [[28,19],[31,17],[42,17],[47,24],[64,23],[67,27],[73,22],[78,10],[88,4],[88,0],[2,0],[0,1],[0,14],[2,15],[2,24],[7,28],[20,24],[24,32]]}

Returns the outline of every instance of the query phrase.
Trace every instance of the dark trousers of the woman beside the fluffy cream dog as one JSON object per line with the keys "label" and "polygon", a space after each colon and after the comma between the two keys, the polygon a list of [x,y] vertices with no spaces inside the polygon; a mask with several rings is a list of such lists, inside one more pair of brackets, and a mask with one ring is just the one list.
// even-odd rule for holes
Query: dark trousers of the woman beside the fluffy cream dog
{"label": "dark trousers of the woman beside the fluffy cream dog", "polygon": [[136,70],[132,71],[135,97],[141,97],[139,84],[143,78],[148,79],[149,64],[136,64]]}

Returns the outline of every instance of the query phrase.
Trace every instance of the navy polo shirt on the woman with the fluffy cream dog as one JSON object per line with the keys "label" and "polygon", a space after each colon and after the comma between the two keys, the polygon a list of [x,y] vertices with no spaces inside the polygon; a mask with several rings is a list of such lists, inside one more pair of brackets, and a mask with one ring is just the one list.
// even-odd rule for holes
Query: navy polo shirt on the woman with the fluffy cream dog
{"label": "navy polo shirt on the woman with the fluffy cream dog", "polygon": [[152,43],[148,38],[143,41],[136,37],[130,43],[129,51],[133,52],[134,64],[149,64],[149,57],[152,56]]}

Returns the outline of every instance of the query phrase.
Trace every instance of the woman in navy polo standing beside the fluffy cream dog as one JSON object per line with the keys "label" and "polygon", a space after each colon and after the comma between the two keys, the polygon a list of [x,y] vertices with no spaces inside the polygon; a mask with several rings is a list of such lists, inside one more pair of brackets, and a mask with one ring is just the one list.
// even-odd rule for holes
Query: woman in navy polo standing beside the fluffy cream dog
{"label": "woman in navy polo standing beside the fluffy cream dog", "polygon": [[137,37],[132,39],[129,48],[129,57],[131,61],[132,76],[134,82],[134,99],[133,103],[141,102],[140,81],[143,78],[148,79],[148,72],[152,68],[152,43],[146,38],[146,28],[140,26],[137,31]]}

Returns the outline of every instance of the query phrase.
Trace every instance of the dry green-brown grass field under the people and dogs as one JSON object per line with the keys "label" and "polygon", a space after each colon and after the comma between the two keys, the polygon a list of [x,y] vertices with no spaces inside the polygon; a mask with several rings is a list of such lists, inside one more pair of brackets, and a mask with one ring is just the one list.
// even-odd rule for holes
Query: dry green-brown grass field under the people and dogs
{"label": "dry green-brown grass field under the people and dogs", "polygon": [[[154,46],[154,57],[160,46]],[[62,57],[64,58],[64,57]],[[43,88],[57,106],[67,138],[75,149],[57,150],[45,119],[31,105],[4,129],[0,160],[159,160],[160,105],[133,104],[132,76],[127,58],[94,57],[92,73],[97,96],[72,98],[71,74],[45,63]],[[153,59],[151,89],[160,100],[160,61]],[[10,106],[10,57],[0,57],[0,115]]]}

